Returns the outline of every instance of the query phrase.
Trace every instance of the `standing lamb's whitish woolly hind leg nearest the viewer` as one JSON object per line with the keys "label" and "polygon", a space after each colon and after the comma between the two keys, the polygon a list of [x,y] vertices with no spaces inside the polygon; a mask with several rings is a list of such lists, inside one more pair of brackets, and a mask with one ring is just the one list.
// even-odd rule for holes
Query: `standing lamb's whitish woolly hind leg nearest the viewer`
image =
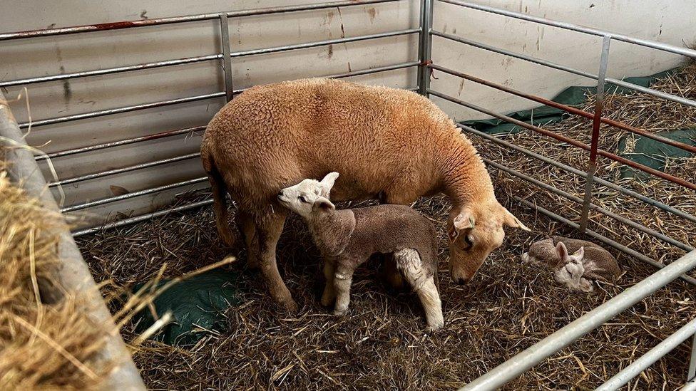
{"label": "standing lamb's whitish woolly hind leg nearest the viewer", "polygon": [[418,294],[425,311],[428,328],[430,330],[442,328],[444,326],[442,303],[435,285],[435,278],[434,276],[426,276],[418,251],[414,249],[399,250],[394,253],[394,259],[396,259],[396,267],[401,273],[404,273],[404,278]]}

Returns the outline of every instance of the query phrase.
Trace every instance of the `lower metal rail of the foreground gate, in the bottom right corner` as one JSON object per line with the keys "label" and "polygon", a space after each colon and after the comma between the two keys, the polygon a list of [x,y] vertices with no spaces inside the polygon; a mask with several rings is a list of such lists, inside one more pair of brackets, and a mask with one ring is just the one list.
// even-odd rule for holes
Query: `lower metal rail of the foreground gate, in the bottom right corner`
{"label": "lower metal rail of the foreground gate, in the bottom right corner", "polygon": [[628,367],[620,370],[616,375],[611,377],[607,382],[595,388],[595,391],[613,391],[618,390],[621,386],[628,383],[633,377],[640,375],[640,372],[650,367],[655,361],[660,360],[667,353],[670,353],[680,343],[684,342],[690,336],[696,333],[696,318],[689,323],[683,325],[679,330],[672,333],[669,337],[658,343],[655,348],[648,350],[648,353],[640,356],[638,360],[630,363]]}

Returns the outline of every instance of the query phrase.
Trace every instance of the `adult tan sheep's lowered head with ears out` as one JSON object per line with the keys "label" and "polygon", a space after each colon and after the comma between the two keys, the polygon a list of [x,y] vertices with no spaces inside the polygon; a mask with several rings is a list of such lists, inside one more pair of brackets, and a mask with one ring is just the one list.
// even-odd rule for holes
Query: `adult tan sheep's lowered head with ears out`
{"label": "adult tan sheep's lowered head with ears out", "polygon": [[503,244],[503,226],[529,229],[497,201],[453,208],[447,221],[452,281],[469,281],[491,251]]}

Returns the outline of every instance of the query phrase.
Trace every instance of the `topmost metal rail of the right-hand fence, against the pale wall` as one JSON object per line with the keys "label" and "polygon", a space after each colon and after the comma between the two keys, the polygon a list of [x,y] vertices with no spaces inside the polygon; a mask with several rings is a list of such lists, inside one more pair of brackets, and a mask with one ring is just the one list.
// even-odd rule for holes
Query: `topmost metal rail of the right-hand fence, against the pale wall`
{"label": "topmost metal rail of the right-hand fence, against the pale wall", "polygon": [[657,49],[659,51],[667,51],[670,53],[679,54],[681,56],[687,56],[691,58],[696,58],[696,51],[689,48],[682,48],[680,46],[670,45],[669,43],[662,43],[656,41],[650,41],[643,38],[635,38],[633,36],[627,36],[620,33],[612,33],[610,31],[600,30],[598,28],[580,26],[578,24],[571,24],[563,21],[555,21],[553,19],[540,18],[538,16],[531,16],[527,14],[522,14],[521,12],[508,11],[505,9],[497,9],[491,6],[482,6],[480,4],[470,3],[469,1],[461,0],[439,0],[443,3],[454,4],[456,6],[463,6],[469,9],[476,9],[478,11],[490,12],[491,14],[498,14],[503,16],[508,16],[514,19],[522,19],[525,21],[531,21],[537,24],[545,24],[546,26],[553,26],[558,28],[563,28],[564,30],[576,31],[578,33],[590,34],[593,36],[609,36],[617,41],[623,41],[628,43],[633,43],[639,46],[645,46],[648,48]]}

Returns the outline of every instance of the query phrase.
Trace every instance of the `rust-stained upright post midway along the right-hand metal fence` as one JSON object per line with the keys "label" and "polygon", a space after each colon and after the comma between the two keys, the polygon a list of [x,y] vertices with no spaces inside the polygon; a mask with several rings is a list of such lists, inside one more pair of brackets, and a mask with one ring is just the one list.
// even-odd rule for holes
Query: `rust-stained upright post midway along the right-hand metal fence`
{"label": "rust-stained upright post midway along the right-hand metal fence", "polygon": [[592,187],[597,171],[597,148],[599,145],[599,127],[602,123],[602,110],[604,108],[604,82],[609,65],[610,36],[604,36],[602,42],[602,56],[600,58],[599,75],[597,78],[597,94],[595,95],[595,117],[592,120],[592,142],[590,143],[590,164],[588,165],[585,182],[585,197],[583,199],[583,213],[580,217],[580,232],[587,229],[590,215],[590,202],[592,202]]}

